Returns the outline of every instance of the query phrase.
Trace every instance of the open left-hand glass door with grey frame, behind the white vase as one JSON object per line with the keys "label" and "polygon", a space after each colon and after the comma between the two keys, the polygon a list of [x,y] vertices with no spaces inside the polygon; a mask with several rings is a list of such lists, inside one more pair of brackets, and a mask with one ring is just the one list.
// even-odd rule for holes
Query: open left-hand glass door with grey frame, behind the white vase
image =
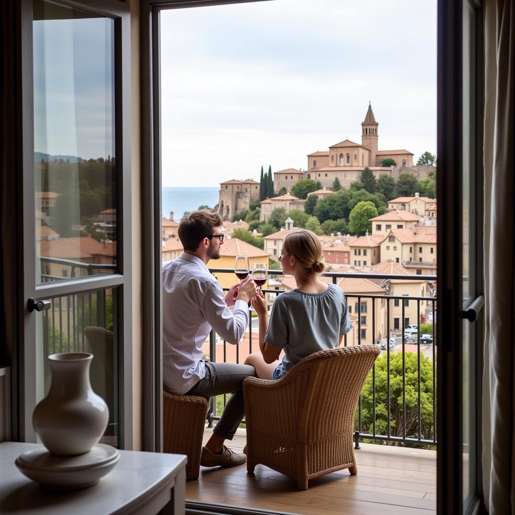
{"label": "open left-hand glass door with grey frame, behind the white vase", "polygon": [[110,410],[102,441],[130,447],[128,10],[117,4],[24,3],[26,441],[51,380],[46,357],[91,352],[91,383]]}

